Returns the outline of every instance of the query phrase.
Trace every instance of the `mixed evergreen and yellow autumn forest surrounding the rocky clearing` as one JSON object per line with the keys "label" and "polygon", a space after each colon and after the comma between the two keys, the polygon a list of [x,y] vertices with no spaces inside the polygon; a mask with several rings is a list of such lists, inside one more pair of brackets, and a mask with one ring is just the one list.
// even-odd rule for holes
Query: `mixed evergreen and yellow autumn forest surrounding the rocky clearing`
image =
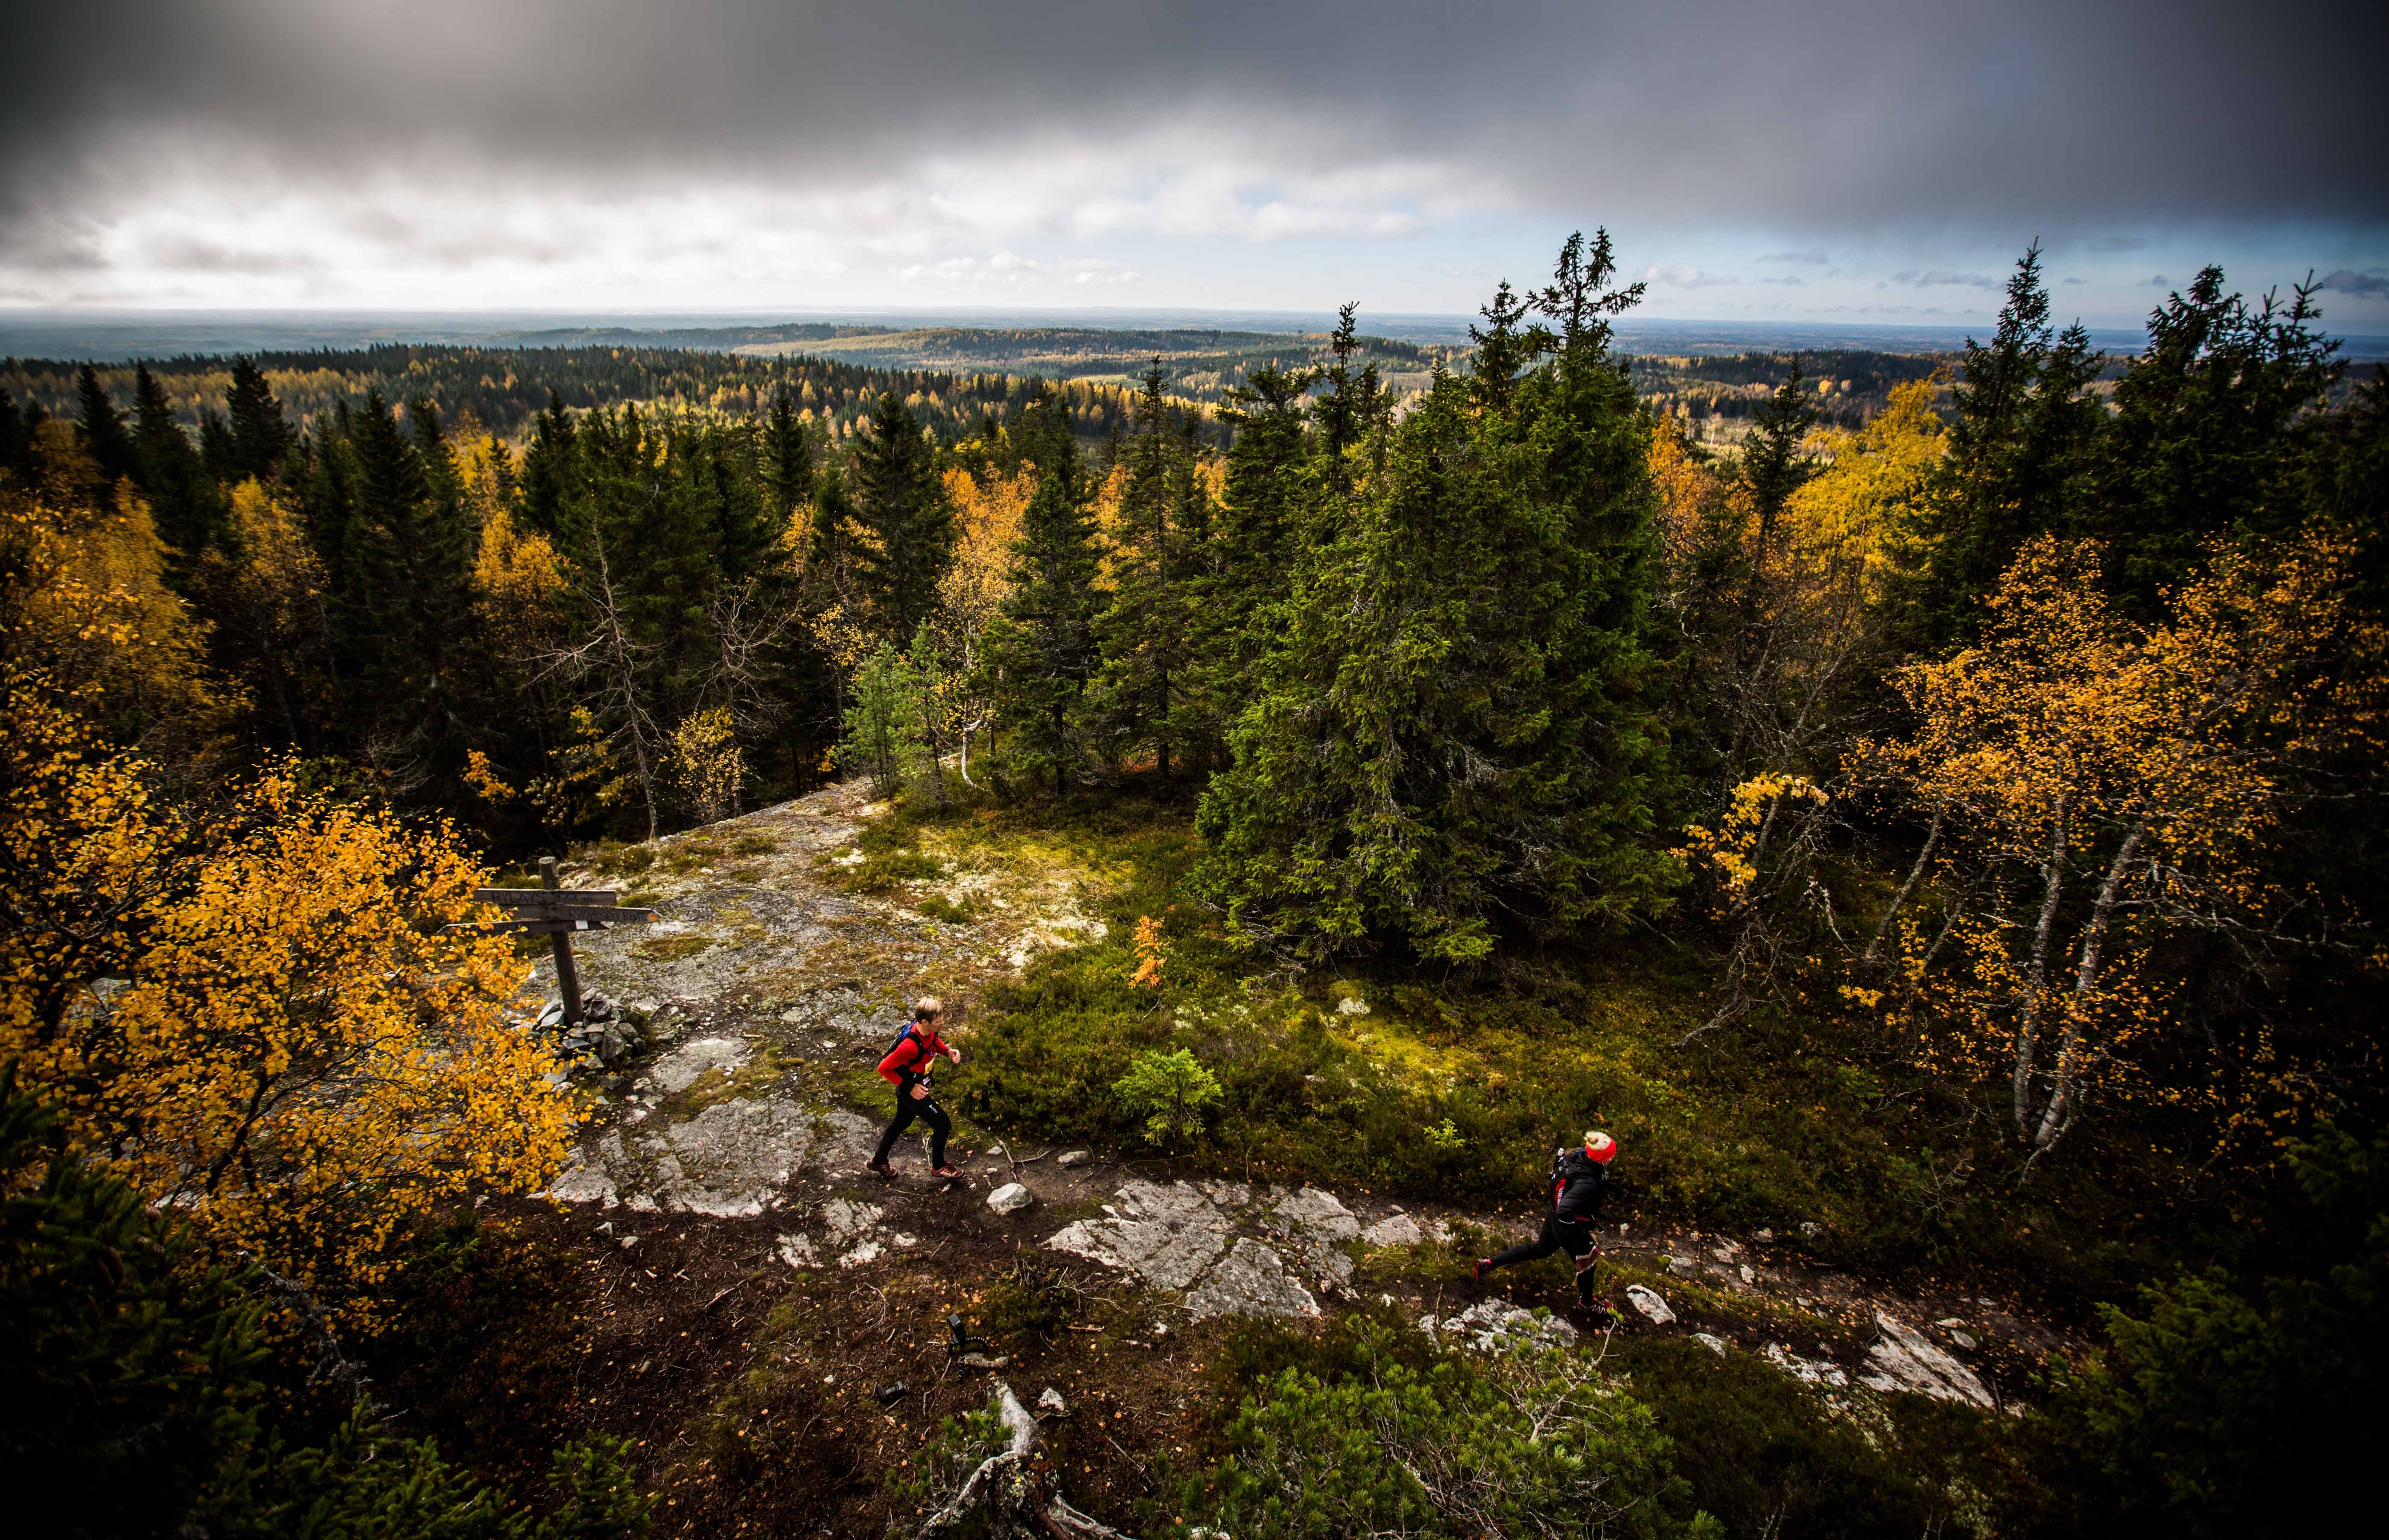
{"label": "mixed evergreen and yellow autumn forest surrounding the rocky clearing", "polygon": [[[2219,270],[2131,361],[2052,320],[2038,251],[1949,361],[1629,361],[1636,298],[1572,239],[1402,387],[1350,308],[1316,361],[1135,389],[645,349],[12,365],[0,1289],[155,1301],[139,1342],[67,1311],[10,1366],[115,1387],[76,1471],[201,1452],[122,1502],[203,1492],[222,1533],[406,1473],[483,1514],[440,1533],[621,1533],[621,1444],[566,1442],[540,1497],[420,1440],[344,1464],[370,1435],[308,1402],[330,1359],[272,1368],[239,1299],[306,1301],[272,1363],[397,1330],[425,1237],[554,1170],[518,962],[428,934],[483,862],[870,776],[915,819],[1185,809],[1154,967],[1474,1000],[1450,1031],[1691,969],[1675,1048],[1780,1077],[1734,1156],[1851,1189],[1847,1265],[1997,1273],[2105,1344],[1980,1435],[1964,1528],[2296,1528],[2384,1361],[2389,384]],[[1101,1134],[1111,1072],[1070,1055],[1175,1041],[1006,1036],[1087,1020],[1073,979],[996,1012],[991,1127]],[[1347,1175],[1398,1191],[1491,1189],[1436,1151],[1529,1127],[1493,1082],[1402,1103],[1424,1141],[1309,1094],[1321,1158],[1376,1148]],[[1651,1201],[1765,1213],[1730,1187]],[[232,1390],[194,1387],[205,1351]],[[160,1397],[189,1430],[117,1430]],[[1484,1533],[1271,1530],[1281,1444],[1238,1447],[1190,1487],[1238,1535]],[[1603,1533],[1722,1533],[1653,1502]]]}

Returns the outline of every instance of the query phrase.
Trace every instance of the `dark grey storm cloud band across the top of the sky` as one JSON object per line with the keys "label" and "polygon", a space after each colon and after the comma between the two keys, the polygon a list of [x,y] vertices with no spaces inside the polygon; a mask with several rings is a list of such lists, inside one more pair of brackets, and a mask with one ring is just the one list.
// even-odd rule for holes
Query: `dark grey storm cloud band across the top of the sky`
{"label": "dark grey storm cloud band across the top of the sky", "polygon": [[1457,160],[1596,217],[2088,236],[2389,212],[2377,2],[84,0],[10,31],[0,222],[72,205],[110,158],[213,143],[308,177],[819,184],[1147,129],[1312,172]]}

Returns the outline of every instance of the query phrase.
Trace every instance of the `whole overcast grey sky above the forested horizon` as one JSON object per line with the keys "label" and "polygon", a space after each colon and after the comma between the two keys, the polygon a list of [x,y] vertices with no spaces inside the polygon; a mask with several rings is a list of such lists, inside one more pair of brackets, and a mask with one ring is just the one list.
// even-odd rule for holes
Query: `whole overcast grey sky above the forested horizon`
{"label": "whole overcast grey sky above the forested horizon", "polygon": [[1973,325],[2040,239],[2389,332],[2389,5],[76,0],[0,48],[0,306]]}

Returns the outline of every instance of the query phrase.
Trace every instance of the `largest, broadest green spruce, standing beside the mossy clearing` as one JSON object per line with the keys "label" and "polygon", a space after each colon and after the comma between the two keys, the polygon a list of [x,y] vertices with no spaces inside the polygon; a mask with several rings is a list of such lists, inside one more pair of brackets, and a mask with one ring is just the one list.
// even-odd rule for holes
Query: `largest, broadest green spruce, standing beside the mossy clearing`
{"label": "largest, broadest green spruce, standing beside the mossy clearing", "polygon": [[[1601,298],[1608,267],[1582,267],[1562,253],[1560,282]],[[1522,375],[1553,346],[1524,315],[1503,287],[1491,365],[1378,430],[1383,473],[1297,578],[1204,797],[1202,891],[1292,955],[1469,962],[1672,883],[1648,838],[1668,759],[1641,418],[1603,327]]]}

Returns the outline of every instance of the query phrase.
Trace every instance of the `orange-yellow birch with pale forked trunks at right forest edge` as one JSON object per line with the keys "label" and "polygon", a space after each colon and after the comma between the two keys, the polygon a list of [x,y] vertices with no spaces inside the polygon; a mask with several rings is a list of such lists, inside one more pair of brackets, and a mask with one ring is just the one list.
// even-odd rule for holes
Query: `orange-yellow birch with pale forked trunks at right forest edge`
{"label": "orange-yellow birch with pale forked trunks at right forest edge", "polygon": [[2270,563],[2217,549],[2136,628],[2093,542],[2038,537],[1976,647],[1894,673],[1916,728],[1856,764],[1930,836],[1883,917],[1890,977],[1854,993],[1928,1065],[2002,1072],[2031,1158],[2176,1027],[2152,967],[2169,938],[2262,936],[2291,903],[2262,869],[2291,771],[2377,731],[2332,669],[2379,645],[2344,563],[2327,540]]}

